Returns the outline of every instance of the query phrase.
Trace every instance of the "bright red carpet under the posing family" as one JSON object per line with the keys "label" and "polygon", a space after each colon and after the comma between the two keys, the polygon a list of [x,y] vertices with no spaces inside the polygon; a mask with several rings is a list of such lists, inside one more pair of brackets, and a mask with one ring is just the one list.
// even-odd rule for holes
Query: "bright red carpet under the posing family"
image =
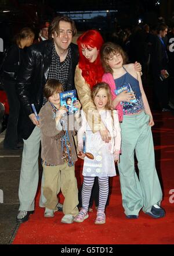
{"label": "bright red carpet under the posing family", "polygon": [[[56,212],[55,218],[44,218],[44,208],[38,207],[37,197],[35,214],[20,225],[13,244],[174,244],[174,191],[169,202],[170,190],[174,190],[174,116],[169,112],[154,113],[154,119],[155,156],[164,190],[165,218],[153,219],[140,212],[139,219],[126,219],[117,176],[111,184],[106,224],[94,224],[95,209],[83,223],[60,223],[61,212]],[[76,168],[78,182],[80,173],[81,161]]]}

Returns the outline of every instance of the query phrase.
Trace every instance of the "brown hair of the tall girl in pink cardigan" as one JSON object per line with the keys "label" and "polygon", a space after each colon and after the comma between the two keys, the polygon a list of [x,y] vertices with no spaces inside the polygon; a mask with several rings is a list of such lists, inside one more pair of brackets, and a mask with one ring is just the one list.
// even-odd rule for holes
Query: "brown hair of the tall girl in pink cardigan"
{"label": "brown hair of the tall girl in pink cardigan", "polygon": [[103,44],[101,49],[101,61],[102,61],[104,72],[113,74],[113,70],[108,65],[108,61],[115,54],[121,54],[123,59],[123,64],[126,64],[126,62],[128,61],[128,56],[119,45],[114,44],[113,42],[106,42]]}

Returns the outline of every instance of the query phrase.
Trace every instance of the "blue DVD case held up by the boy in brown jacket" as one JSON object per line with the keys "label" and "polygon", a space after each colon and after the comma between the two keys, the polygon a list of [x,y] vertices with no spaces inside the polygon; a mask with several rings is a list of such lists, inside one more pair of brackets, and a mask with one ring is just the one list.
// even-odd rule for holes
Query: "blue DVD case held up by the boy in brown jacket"
{"label": "blue DVD case held up by the boy in brown jacket", "polygon": [[74,107],[74,103],[77,101],[77,94],[75,90],[64,91],[60,93],[60,105],[66,106],[68,109],[68,114],[71,115],[75,111],[78,111],[77,108]]}

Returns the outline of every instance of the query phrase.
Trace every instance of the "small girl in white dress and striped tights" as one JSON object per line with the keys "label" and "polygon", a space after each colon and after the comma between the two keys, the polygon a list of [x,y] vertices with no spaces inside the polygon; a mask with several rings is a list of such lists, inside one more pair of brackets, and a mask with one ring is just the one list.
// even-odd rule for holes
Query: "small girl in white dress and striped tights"
{"label": "small girl in white dress and striped tights", "polygon": [[[117,162],[119,158],[121,131],[118,113],[116,110],[111,110],[111,91],[108,84],[97,83],[92,88],[92,99],[104,125],[111,134],[111,140],[109,143],[105,143],[99,131],[93,133],[87,122],[88,116],[86,117],[84,111],[81,111],[82,126],[78,130],[78,149],[81,156],[84,157],[82,172],[84,183],[82,187],[82,209],[75,216],[74,221],[83,222],[84,219],[88,218],[90,194],[97,176],[99,177],[99,207],[95,224],[103,224],[106,222],[104,210],[108,197],[108,177],[116,175],[114,161]],[[94,159],[85,157],[85,152],[91,153]]]}

